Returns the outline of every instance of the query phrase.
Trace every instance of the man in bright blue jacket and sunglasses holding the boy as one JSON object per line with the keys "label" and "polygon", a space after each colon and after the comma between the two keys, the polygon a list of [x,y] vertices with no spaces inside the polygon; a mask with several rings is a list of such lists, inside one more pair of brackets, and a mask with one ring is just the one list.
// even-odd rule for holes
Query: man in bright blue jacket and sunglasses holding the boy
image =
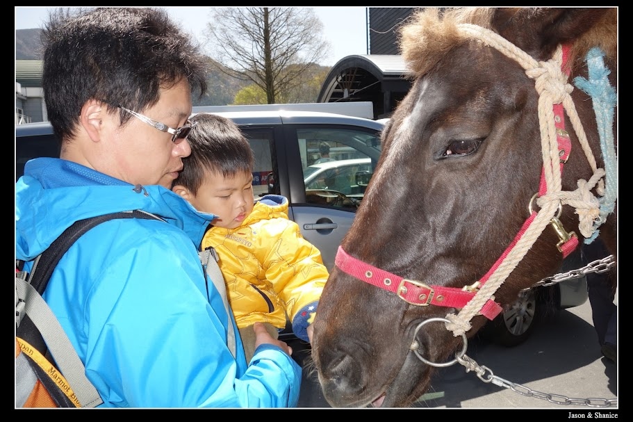
{"label": "man in bright blue jacket and sunglasses holding the boy", "polygon": [[[214,216],[170,186],[190,154],[204,56],[163,10],[97,8],[44,28],[42,85],[61,158],[15,185],[15,256],[27,262],[76,220],[140,209],[163,220],[101,223],[70,247],[44,299],[103,407],[294,407],[301,368],[256,327],[247,362],[197,246]],[[235,329],[237,332],[237,330]]]}

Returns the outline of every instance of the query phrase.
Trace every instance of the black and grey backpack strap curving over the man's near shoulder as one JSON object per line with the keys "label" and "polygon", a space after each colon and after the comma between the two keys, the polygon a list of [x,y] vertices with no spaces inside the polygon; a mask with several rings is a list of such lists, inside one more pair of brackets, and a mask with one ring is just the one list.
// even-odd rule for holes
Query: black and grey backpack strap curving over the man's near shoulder
{"label": "black and grey backpack strap curving over the man's near shoulder", "polygon": [[[24,309],[24,317],[16,316],[16,336],[34,346],[42,355],[48,348],[61,373],[79,399],[82,407],[94,407],[103,403],[97,389],[85,376],[85,367],[70,343],[57,318],[42,299],[51,274],[68,248],[85,232],[101,222],[114,218],[145,218],[161,220],[145,211],[122,211],[86,218],[74,222],[33,263],[28,282],[16,275],[16,309]],[[39,268],[39,271],[35,271]],[[22,302],[18,305],[18,302]],[[37,346],[36,346],[37,345]]]}

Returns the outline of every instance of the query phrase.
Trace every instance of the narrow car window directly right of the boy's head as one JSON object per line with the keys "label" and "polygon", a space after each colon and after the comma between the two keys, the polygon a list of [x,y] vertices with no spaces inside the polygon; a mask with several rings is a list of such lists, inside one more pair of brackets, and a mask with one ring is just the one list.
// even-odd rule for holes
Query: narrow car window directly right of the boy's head
{"label": "narrow car window directly right of the boy's head", "polygon": [[248,139],[255,156],[253,167],[253,195],[262,197],[268,193],[279,195],[277,179],[277,160],[273,159],[274,142],[271,129],[241,128],[242,133]]}

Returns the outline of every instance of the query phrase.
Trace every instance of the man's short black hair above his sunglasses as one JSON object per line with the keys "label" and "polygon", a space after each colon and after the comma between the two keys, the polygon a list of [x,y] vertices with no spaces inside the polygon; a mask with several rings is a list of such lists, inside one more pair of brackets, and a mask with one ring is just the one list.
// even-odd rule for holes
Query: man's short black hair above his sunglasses
{"label": "man's short black hair above his sunglasses", "polygon": [[182,79],[206,92],[205,57],[160,8],[58,8],[44,24],[42,47],[44,101],[60,140],[72,138],[90,99],[142,111],[158,102],[159,88]]}

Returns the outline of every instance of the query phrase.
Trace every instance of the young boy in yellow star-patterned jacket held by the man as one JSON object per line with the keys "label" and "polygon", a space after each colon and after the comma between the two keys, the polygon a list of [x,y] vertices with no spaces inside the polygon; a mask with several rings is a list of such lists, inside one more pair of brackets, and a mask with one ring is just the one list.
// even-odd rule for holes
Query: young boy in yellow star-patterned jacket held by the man
{"label": "young boy in yellow star-patterned jacket held by the man", "polygon": [[213,114],[191,119],[191,155],[172,190],[198,211],[212,213],[202,250],[213,247],[236,318],[247,362],[254,354],[252,325],[265,323],[278,338],[286,327],[312,340],[312,320],[327,268],[320,251],[288,220],[288,200],[266,195],[255,202],[252,188],[254,154],[231,120]]}

